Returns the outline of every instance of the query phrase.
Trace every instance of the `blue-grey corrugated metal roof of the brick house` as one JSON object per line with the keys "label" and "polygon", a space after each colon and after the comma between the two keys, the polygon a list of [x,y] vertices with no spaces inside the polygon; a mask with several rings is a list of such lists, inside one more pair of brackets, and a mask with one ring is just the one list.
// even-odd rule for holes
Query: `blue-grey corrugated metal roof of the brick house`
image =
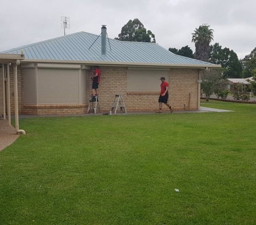
{"label": "blue-grey corrugated metal roof of the brick house", "polygon": [[[107,54],[101,54],[101,37],[87,32],[53,38],[38,43],[9,49],[1,53],[20,54],[24,51],[26,59],[30,60],[68,60],[96,61],[118,63],[149,63],[149,64],[179,64],[215,66],[212,63],[175,55],[157,43],[128,42],[109,39]],[[96,40],[93,46],[91,44]]]}

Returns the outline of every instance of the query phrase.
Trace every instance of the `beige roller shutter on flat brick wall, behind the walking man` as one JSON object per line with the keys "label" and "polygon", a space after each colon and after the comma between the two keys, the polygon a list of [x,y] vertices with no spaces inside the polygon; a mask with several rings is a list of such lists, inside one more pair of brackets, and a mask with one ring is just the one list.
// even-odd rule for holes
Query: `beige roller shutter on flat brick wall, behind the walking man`
{"label": "beige roller shutter on flat brick wall, behind the walking man", "polygon": [[128,92],[158,92],[160,77],[165,77],[168,82],[168,71],[129,69]]}

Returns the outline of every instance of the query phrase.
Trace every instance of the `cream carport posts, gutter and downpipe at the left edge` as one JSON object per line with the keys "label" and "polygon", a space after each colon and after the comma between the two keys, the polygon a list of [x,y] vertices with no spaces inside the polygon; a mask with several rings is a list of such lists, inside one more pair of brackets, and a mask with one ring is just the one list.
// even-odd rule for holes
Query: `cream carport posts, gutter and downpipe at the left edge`
{"label": "cream carport posts, gutter and downpipe at the left edge", "polygon": [[[19,110],[18,110],[18,88],[17,88],[17,66],[20,60],[25,57],[23,54],[0,54],[0,67],[2,80],[0,90],[2,98],[0,101],[0,109],[2,119],[6,119],[6,111],[8,116],[8,124],[11,125],[11,96],[10,96],[10,66],[13,66],[13,82],[14,82],[14,104],[15,104],[15,130],[17,133],[26,134],[24,130],[19,129]],[[7,104],[7,107],[6,107]],[[7,109],[7,110],[6,110]]]}

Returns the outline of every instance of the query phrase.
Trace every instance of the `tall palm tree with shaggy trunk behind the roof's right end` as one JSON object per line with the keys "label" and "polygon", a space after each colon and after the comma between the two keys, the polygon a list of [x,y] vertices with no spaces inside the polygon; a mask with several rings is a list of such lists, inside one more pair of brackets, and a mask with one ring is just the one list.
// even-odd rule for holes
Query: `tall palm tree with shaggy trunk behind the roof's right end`
{"label": "tall palm tree with shaggy trunk behind the roof's right end", "polygon": [[192,42],[195,42],[195,58],[208,62],[209,45],[213,40],[213,29],[209,25],[202,24],[192,33]]}

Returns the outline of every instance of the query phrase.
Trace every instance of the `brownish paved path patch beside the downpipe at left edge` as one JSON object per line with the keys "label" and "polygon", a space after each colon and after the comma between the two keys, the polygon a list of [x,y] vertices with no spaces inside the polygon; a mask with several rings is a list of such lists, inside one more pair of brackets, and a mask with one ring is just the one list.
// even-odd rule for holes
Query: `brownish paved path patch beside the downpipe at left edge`
{"label": "brownish paved path patch beside the downpipe at left edge", "polygon": [[0,119],[0,151],[12,144],[18,137],[15,128],[8,125],[8,120]]}

